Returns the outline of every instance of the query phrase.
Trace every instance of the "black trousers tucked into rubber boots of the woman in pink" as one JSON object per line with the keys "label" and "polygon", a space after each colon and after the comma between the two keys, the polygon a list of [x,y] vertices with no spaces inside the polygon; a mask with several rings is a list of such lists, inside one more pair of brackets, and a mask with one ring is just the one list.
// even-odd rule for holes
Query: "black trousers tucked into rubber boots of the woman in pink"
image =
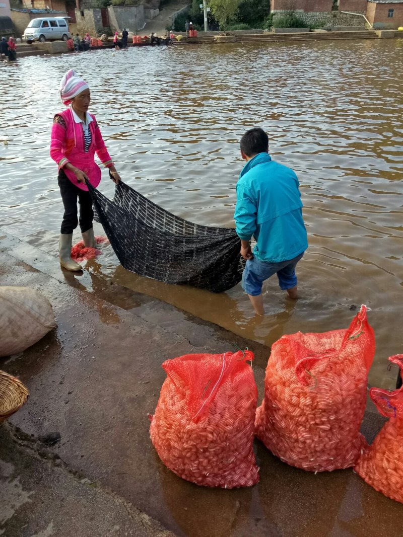
{"label": "black trousers tucked into rubber boots of the woman in pink", "polygon": [[[81,190],[76,185],[73,185],[66,176],[63,170],[60,170],[57,176],[60,194],[64,205],[63,221],[60,228],[60,233],[69,235],[76,229],[80,222],[81,233],[92,228],[93,211],[92,199],[87,190]],[[80,204],[80,219],[77,219],[77,198]]]}

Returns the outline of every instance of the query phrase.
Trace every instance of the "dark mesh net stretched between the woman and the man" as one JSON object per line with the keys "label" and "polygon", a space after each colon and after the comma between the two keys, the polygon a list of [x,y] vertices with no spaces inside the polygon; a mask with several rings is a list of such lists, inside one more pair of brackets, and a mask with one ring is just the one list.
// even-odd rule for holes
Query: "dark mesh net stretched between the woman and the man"
{"label": "dark mesh net stretched between the woman and the man", "polygon": [[121,265],[167,284],[214,293],[241,281],[243,262],[235,229],[199,226],[165,211],[125,183],[113,200],[91,185],[96,220]]}

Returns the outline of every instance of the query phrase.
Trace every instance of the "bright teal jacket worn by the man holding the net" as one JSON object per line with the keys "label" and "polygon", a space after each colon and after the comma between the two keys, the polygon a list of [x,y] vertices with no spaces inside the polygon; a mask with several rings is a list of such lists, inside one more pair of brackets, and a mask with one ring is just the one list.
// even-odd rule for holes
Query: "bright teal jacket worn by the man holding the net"
{"label": "bright teal jacket worn by the man holding the net", "polygon": [[257,243],[253,255],[279,263],[308,248],[303,204],[296,174],[287,166],[259,153],[248,161],[236,184],[236,233]]}

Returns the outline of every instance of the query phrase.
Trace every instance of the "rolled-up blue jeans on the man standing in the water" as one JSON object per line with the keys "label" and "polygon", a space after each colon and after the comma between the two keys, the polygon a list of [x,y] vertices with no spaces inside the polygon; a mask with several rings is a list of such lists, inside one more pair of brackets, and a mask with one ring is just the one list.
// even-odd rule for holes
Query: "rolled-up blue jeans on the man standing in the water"
{"label": "rolled-up blue jeans on the man standing in the water", "polygon": [[273,274],[277,274],[280,289],[286,291],[297,285],[295,267],[303,257],[304,252],[293,259],[280,261],[279,263],[268,263],[260,261],[256,257],[248,259],[242,274],[242,289],[251,296],[262,293],[262,285]]}

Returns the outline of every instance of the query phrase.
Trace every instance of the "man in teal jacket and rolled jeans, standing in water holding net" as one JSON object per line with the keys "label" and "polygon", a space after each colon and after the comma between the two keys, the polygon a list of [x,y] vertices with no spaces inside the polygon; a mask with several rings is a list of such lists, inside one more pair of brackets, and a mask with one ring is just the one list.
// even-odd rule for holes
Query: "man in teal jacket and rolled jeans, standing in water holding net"
{"label": "man in teal jacket and rolled jeans, standing in water holding net", "polygon": [[[235,224],[246,259],[242,287],[258,315],[264,315],[262,284],[273,274],[292,299],[297,298],[295,267],[308,248],[296,174],[271,160],[269,138],[261,128],[241,139],[244,165],[236,184]],[[250,240],[256,246],[252,253]]]}

